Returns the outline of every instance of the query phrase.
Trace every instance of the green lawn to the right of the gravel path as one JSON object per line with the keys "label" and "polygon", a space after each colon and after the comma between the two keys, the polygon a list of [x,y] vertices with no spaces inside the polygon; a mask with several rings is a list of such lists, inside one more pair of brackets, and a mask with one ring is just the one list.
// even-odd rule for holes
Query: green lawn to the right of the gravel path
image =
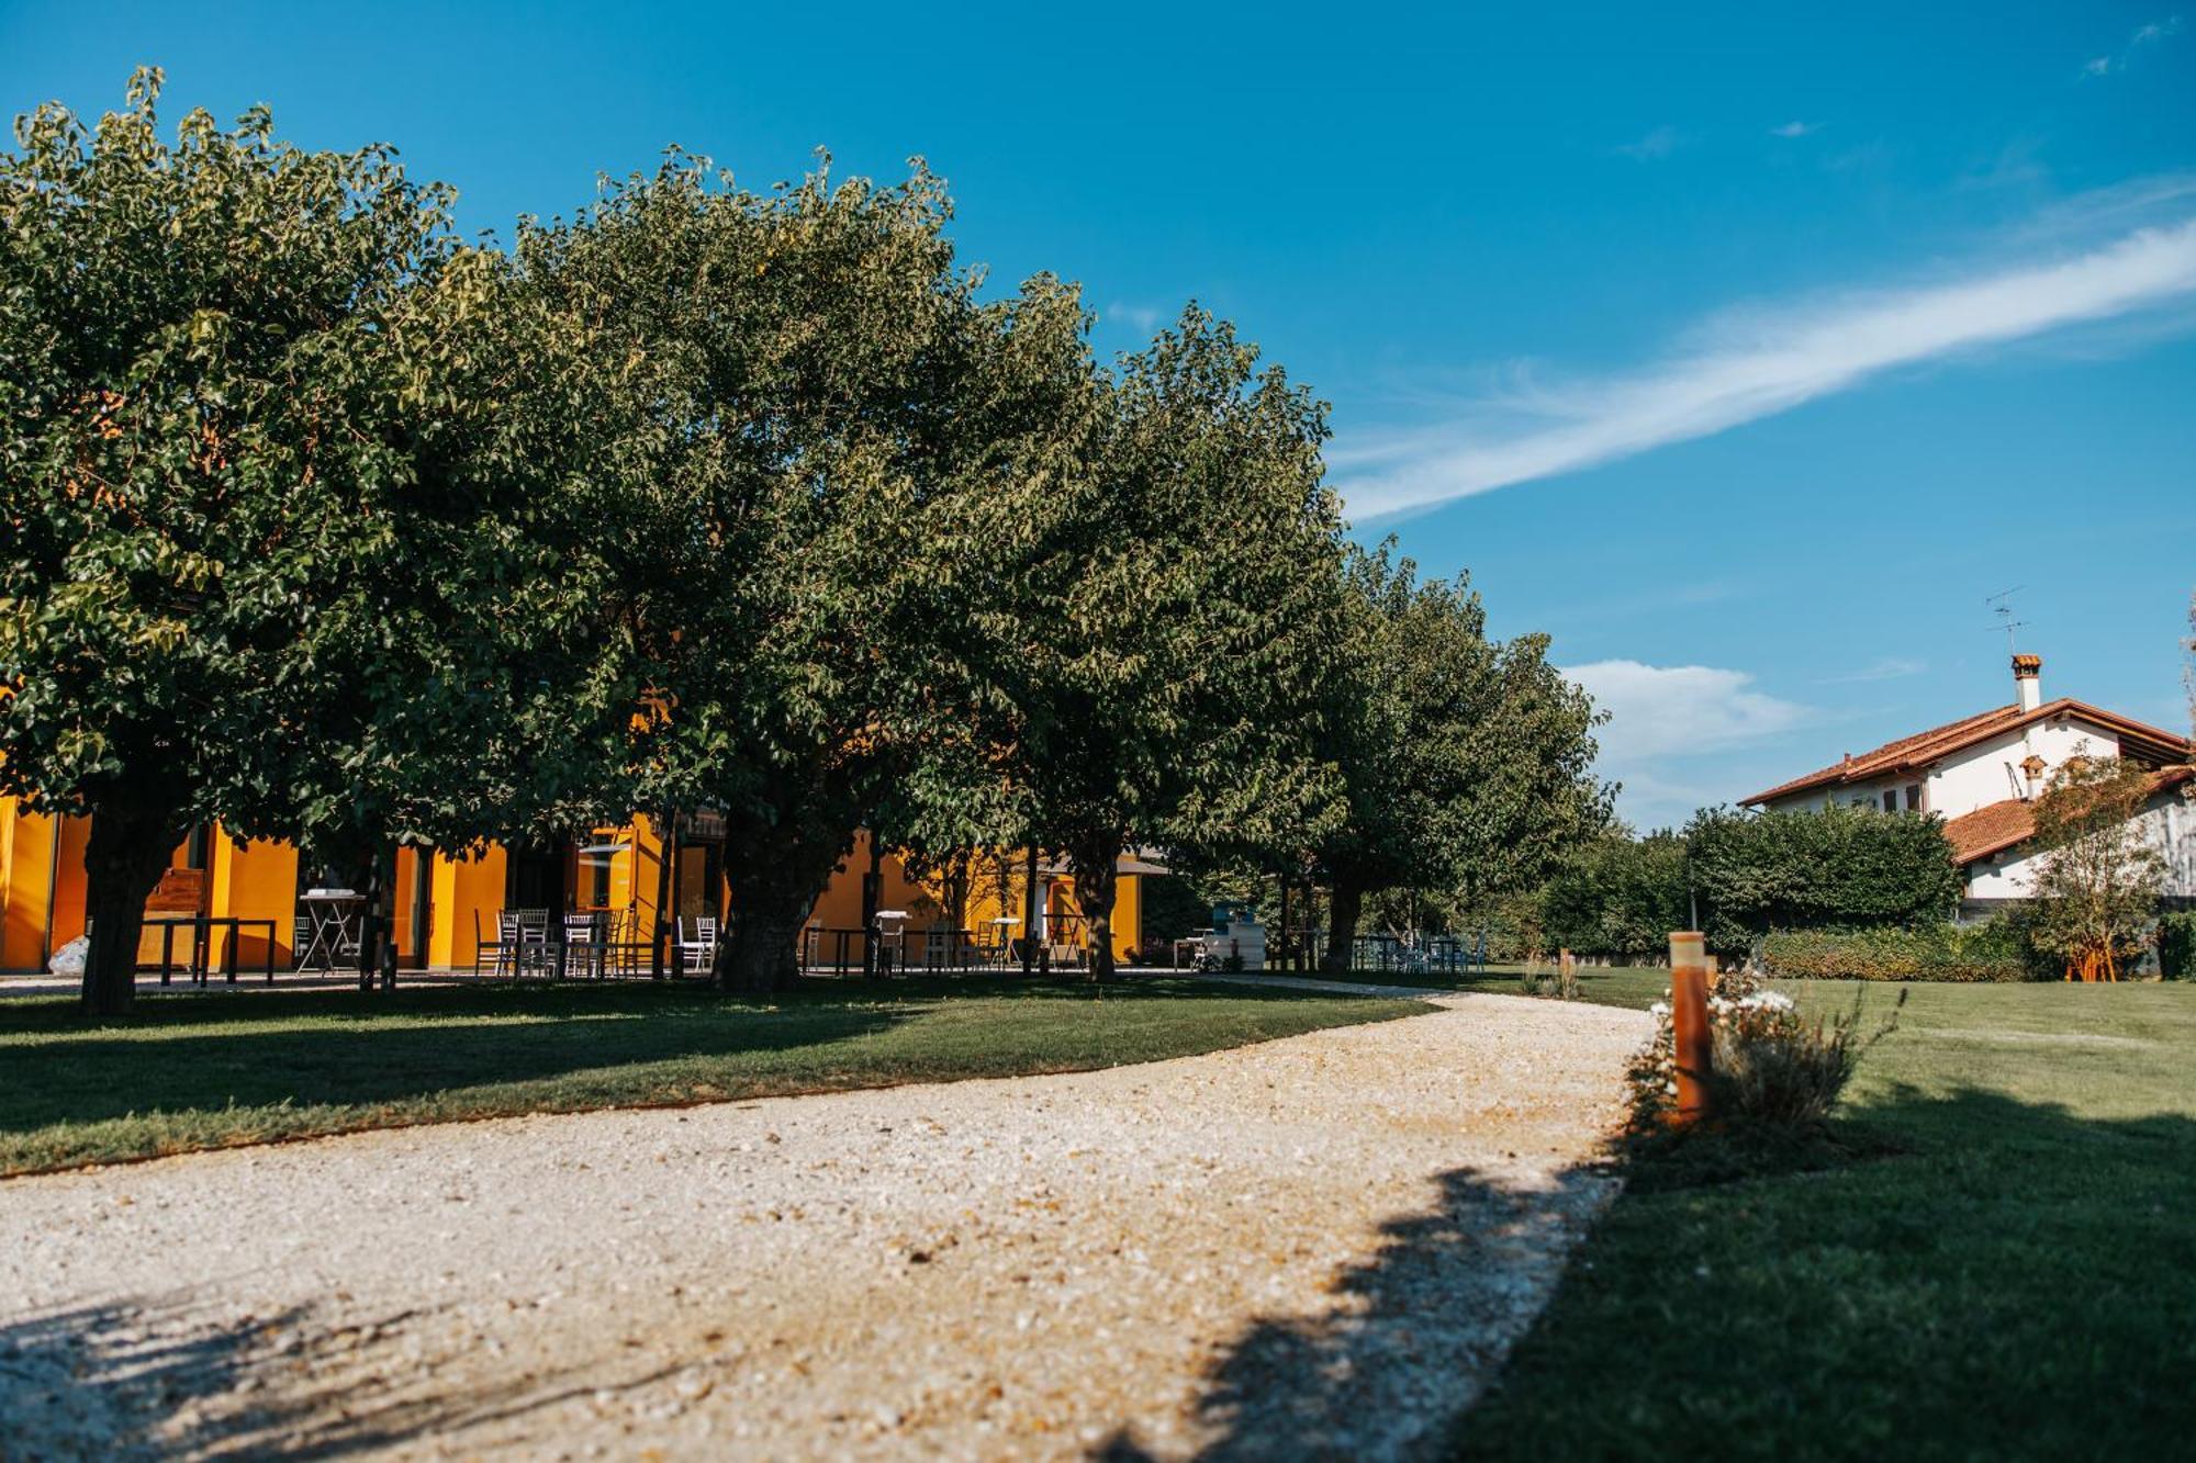
{"label": "green lawn to the right of the gravel path", "polygon": [[1640,1171],[1463,1456],[2192,1445],[2196,986],[1913,986],[1840,1127],[1893,1153],[1706,1188]]}

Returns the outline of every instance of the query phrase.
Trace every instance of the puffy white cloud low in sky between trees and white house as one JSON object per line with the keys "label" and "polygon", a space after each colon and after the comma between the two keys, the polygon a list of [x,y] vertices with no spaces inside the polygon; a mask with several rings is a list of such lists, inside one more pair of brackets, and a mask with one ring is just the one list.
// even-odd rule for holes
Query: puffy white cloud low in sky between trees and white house
{"label": "puffy white cloud low in sky between trees and white house", "polygon": [[1594,736],[1603,778],[1623,782],[1618,811],[1640,828],[1682,824],[1693,808],[1752,791],[1728,767],[1687,767],[1689,758],[1730,753],[1814,721],[1814,710],[1750,690],[1744,670],[1594,661],[1566,677],[1610,714]]}

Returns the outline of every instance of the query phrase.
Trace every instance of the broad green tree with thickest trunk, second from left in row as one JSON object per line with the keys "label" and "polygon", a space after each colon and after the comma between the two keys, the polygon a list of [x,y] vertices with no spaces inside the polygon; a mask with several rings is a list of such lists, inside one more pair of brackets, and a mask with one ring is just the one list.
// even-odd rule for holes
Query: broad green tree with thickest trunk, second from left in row
{"label": "broad green tree with thickest trunk, second from left in row", "polygon": [[793,978],[856,826],[968,844],[960,793],[997,780],[971,587],[1028,538],[1087,365],[1074,294],[979,299],[949,211],[920,165],[755,193],[674,154],[520,235],[531,288],[602,336],[604,534],[663,710],[630,793],[722,808],[727,984]]}

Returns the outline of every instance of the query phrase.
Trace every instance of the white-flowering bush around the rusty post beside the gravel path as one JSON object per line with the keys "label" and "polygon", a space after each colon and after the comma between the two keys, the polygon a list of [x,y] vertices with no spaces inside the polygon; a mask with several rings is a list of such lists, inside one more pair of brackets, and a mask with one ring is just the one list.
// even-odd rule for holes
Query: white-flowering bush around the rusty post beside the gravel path
{"label": "white-flowering bush around the rusty post beside the gravel path", "polygon": [[[1829,1116],[1860,1054],[1897,1026],[1897,1008],[1873,1035],[1860,1035],[1862,995],[1834,1017],[1805,1017],[1790,995],[1763,989],[1752,975],[1719,975],[1708,995],[1715,1039],[1708,1105],[1717,1125],[1812,1127]],[[1900,991],[1900,1006],[1906,991]],[[1678,1037],[1669,991],[1651,1008],[1654,1041],[1632,1059],[1632,1125],[1667,1127],[1678,1103]]]}

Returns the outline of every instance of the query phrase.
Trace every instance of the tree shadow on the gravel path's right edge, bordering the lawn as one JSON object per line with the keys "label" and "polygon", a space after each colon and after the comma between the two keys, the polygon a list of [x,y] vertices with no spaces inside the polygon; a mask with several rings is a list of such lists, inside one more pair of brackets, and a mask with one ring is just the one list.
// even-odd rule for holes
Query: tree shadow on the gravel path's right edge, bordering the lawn
{"label": "tree shadow on the gravel path's right edge, bordering the lawn", "polygon": [[[1381,1226],[1381,1250],[1335,1278],[1324,1314],[1261,1318],[1221,1351],[1199,1406],[1221,1437],[1199,1459],[1438,1452],[1546,1305],[1614,1180],[1570,1169],[1526,1188],[1456,1169],[1438,1184],[1432,1213]],[[1151,1454],[1122,1426],[1094,1456]]]}

